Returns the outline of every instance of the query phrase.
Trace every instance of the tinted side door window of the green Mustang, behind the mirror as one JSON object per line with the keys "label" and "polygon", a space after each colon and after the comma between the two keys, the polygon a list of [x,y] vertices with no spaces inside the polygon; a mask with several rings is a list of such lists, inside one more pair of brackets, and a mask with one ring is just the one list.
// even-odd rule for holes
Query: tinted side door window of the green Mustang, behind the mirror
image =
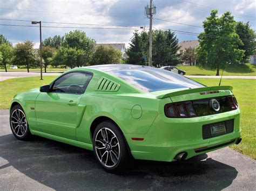
{"label": "tinted side door window of the green Mustang, behind the mirror", "polygon": [[83,94],[92,75],[83,72],[72,72],[60,77],[53,83],[52,92]]}

